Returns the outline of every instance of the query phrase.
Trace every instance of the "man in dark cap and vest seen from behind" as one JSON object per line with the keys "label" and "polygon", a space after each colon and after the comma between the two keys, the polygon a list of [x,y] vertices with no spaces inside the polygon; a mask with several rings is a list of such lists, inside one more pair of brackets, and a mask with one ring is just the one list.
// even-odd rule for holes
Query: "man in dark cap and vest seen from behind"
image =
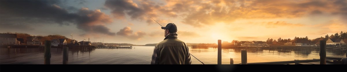
{"label": "man in dark cap and vest seen from behind", "polygon": [[164,40],[155,45],[151,64],[192,64],[188,46],[177,39],[177,26],[169,23],[164,29]]}

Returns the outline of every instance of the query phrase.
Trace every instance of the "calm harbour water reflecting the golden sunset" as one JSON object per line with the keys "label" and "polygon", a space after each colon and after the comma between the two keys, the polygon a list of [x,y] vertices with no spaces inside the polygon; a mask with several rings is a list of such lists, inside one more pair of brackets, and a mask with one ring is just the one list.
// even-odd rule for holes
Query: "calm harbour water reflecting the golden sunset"
{"label": "calm harbour water reflecting the golden sunset", "polygon": [[[132,49],[97,48],[92,51],[69,49],[68,64],[150,64],[154,46]],[[319,49],[245,48],[247,63],[320,59]],[[62,64],[62,48],[51,48],[51,64]],[[189,52],[204,64],[217,64],[218,48],[192,48]],[[192,64],[202,64],[193,56]],[[345,52],[327,49],[327,56],[346,57]],[[241,63],[241,49],[222,49],[222,64]],[[44,64],[41,48],[1,48],[0,64]]]}

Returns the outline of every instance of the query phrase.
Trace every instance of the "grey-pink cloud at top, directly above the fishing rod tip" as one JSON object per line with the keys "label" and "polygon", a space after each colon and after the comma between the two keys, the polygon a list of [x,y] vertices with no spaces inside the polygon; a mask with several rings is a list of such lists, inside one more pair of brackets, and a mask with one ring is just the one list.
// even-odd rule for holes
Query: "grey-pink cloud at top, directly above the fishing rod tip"
{"label": "grey-pink cloud at top, directly above the fishing rod tip", "polygon": [[155,21],[160,24],[167,23],[167,20],[160,19],[158,16],[178,17],[175,11],[159,6],[159,4],[150,0],[142,0],[139,4],[132,0],[106,0],[104,6],[111,10],[112,16],[116,19],[125,19],[127,15],[132,20],[145,21],[148,25],[157,24]]}

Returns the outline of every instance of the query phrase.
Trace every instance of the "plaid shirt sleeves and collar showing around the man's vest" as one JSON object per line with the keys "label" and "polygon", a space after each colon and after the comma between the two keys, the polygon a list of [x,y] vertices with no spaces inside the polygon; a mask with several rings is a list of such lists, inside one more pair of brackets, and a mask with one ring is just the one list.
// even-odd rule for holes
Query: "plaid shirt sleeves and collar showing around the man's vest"
{"label": "plaid shirt sleeves and collar showing around the man's vest", "polygon": [[[168,39],[170,36],[177,36],[176,33],[171,33],[171,34],[168,34],[165,38],[165,39]],[[155,46],[156,47],[156,46]],[[186,47],[187,50],[188,50],[188,47]],[[153,50],[153,55],[152,55],[152,60],[151,60],[151,64],[160,64],[160,58],[158,56],[158,54],[160,53],[159,50],[156,50],[157,48],[154,48]],[[191,56],[190,56],[190,53],[189,53],[189,50],[188,50],[188,56],[184,62],[185,64],[191,64],[192,61],[191,61]]]}

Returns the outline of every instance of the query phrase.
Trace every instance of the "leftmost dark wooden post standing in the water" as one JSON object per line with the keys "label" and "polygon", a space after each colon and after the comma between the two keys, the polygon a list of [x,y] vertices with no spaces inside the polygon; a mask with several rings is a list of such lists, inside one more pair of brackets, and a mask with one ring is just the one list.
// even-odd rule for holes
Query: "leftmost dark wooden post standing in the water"
{"label": "leftmost dark wooden post standing in the water", "polygon": [[44,64],[51,64],[51,41],[46,40],[44,47]]}

